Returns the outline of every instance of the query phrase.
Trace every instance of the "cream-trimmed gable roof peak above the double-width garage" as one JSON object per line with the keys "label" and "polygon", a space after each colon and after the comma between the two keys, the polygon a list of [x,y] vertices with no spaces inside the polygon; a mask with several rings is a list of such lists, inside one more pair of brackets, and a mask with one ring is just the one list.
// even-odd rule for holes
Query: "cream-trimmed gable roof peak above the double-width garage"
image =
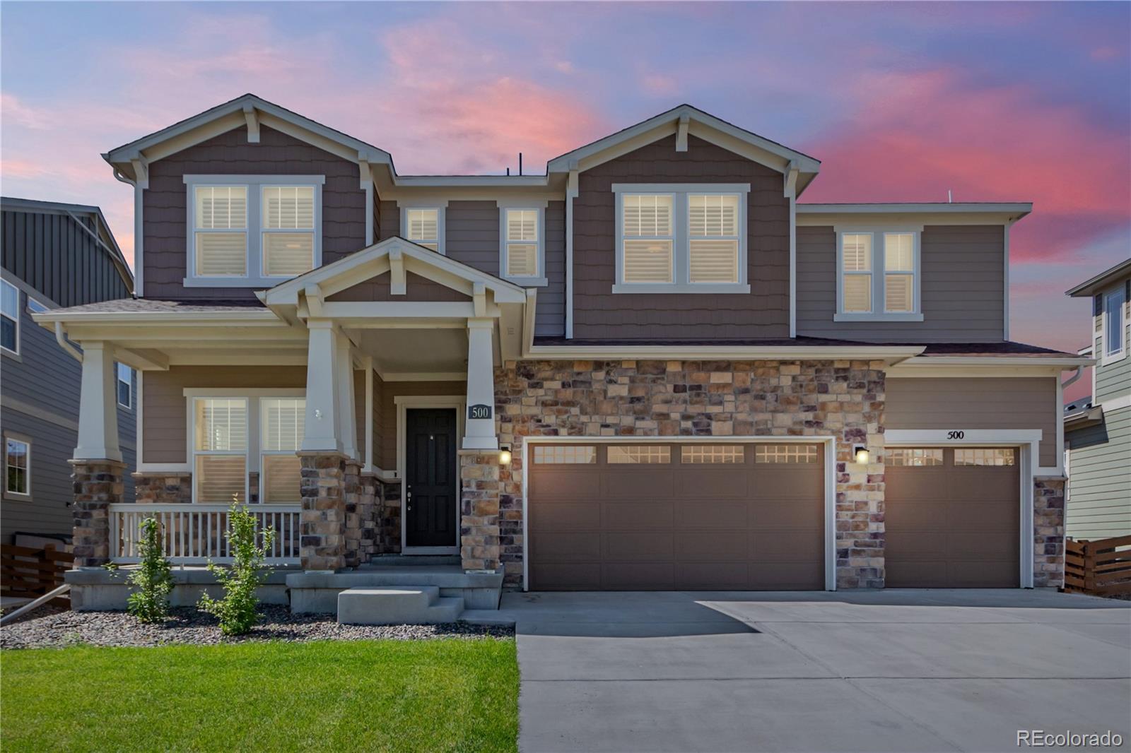
{"label": "cream-trimmed gable roof peak above the double-width garage", "polygon": [[821,161],[815,157],[739,128],[692,105],[681,104],[554,157],[546,163],[546,173],[588,170],[672,133],[676,135],[677,144],[690,133],[782,173],[796,168],[798,194],[821,168]]}

